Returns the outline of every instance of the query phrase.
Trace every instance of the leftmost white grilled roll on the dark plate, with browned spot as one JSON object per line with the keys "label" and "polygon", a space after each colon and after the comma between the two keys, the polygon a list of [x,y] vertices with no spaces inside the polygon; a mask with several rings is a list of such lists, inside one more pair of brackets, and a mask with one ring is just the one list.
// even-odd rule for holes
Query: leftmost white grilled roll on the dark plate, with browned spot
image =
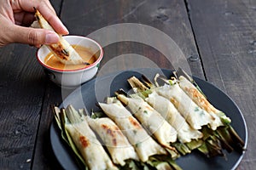
{"label": "leftmost white grilled roll on the dark plate, with browned spot", "polygon": [[[58,110],[55,109],[55,111]],[[56,114],[60,114],[60,112]],[[90,169],[118,169],[103,149],[102,144],[96,139],[95,133],[90,129],[83,116],[80,116],[80,113],[74,110],[72,105],[67,106],[66,110],[62,110],[62,114],[64,117],[61,120],[66,119],[63,128],[67,130],[84,158],[85,164]]]}

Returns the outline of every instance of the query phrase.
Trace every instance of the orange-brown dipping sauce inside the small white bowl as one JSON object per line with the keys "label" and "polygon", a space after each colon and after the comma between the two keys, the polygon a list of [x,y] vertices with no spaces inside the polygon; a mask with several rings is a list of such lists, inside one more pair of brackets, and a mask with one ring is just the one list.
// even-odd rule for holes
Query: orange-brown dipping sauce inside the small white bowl
{"label": "orange-brown dipping sauce inside the small white bowl", "polygon": [[[93,54],[89,48],[84,48],[79,45],[73,45],[73,48],[76,50],[76,52],[80,55],[80,57],[84,60],[84,62],[87,63],[94,63],[97,59],[96,54]],[[59,59],[57,59],[54,54],[49,53],[45,59],[44,59],[44,64],[48,65],[50,67],[53,67],[55,69],[59,70],[76,70],[76,69],[82,69],[88,65],[65,65],[61,63]]]}

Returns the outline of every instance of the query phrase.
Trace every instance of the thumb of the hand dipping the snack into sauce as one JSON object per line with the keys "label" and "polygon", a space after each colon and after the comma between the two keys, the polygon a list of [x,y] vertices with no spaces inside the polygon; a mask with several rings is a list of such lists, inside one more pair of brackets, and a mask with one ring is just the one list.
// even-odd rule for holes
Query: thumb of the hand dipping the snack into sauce
{"label": "thumb of the hand dipping the snack into sauce", "polygon": [[14,26],[13,41],[30,45],[56,43],[59,41],[55,31],[36,29],[31,27]]}

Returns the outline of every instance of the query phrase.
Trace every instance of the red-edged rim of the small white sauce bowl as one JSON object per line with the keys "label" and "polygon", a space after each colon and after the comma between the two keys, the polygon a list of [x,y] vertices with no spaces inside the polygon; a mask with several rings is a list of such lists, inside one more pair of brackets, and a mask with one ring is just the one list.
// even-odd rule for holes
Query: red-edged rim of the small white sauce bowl
{"label": "red-edged rim of the small white sauce bowl", "polygon": [[69,35],[63,36],[63,37],[64,37],[64,38],[65,38],[65,37],[77,37],[77,38],[83,38],[83,39],[90,40],[90,42],[94,42],[94,43],[96,44],[96,46],[97,46],[98,48],[100,48],[101,54],[100,54],[100,56],[98,57],[98,59],[96,59],[96,61],[95,61],[94,63],[90,64],[90,65],[85,65],[83,68],[79,68],[79,69],[65,70],[65,69],[56,69],[55,67],[46,65],[46,64],[44,63],[44,61],[42,61],[42,59],[39,58],[38,52],[39,52],[40,48],[38,48],[36,55],[37,55],[37,59],[38,59],[38,62],[40,63],[40,65],[43,65],[45,68],[47,68],[47,69],[49,69],[49,70],[51,70],[51,71],[57,71],[57,72],[74,72],[74,71],[85,71],[85,70],[89,70],[90,68],[93,68],[93,67],[95,67],[96,65],[98,65],[98,63],[102,60],[103,54],[104,54],[102,46],[101,46],[98,42],[96,42],[95,40],[91,39],[90,37],[69,36]]}

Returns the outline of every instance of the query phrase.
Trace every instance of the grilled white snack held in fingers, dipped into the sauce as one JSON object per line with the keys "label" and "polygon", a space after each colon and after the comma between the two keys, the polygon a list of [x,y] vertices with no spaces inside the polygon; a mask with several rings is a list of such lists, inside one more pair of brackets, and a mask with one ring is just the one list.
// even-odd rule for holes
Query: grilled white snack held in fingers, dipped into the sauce
{"label": "grilled white snack held in fingers, dipped into the sauce", "polygon": [[[40,14],[38,9],[35,8],[35,11],[35,17],[37,20],[32,24],[32,27],[44,28],[50,31],[55,31],[49,25],[47,20],[44,19],[44,16]],[[84,62],[84,60],[79,56],[75,49],[61,35],[59,35],[59,37],[59,42],[46,46],[55,55],[55,57],[61,61],[61,63],[65,65],[89,65],[89,63]]]}

